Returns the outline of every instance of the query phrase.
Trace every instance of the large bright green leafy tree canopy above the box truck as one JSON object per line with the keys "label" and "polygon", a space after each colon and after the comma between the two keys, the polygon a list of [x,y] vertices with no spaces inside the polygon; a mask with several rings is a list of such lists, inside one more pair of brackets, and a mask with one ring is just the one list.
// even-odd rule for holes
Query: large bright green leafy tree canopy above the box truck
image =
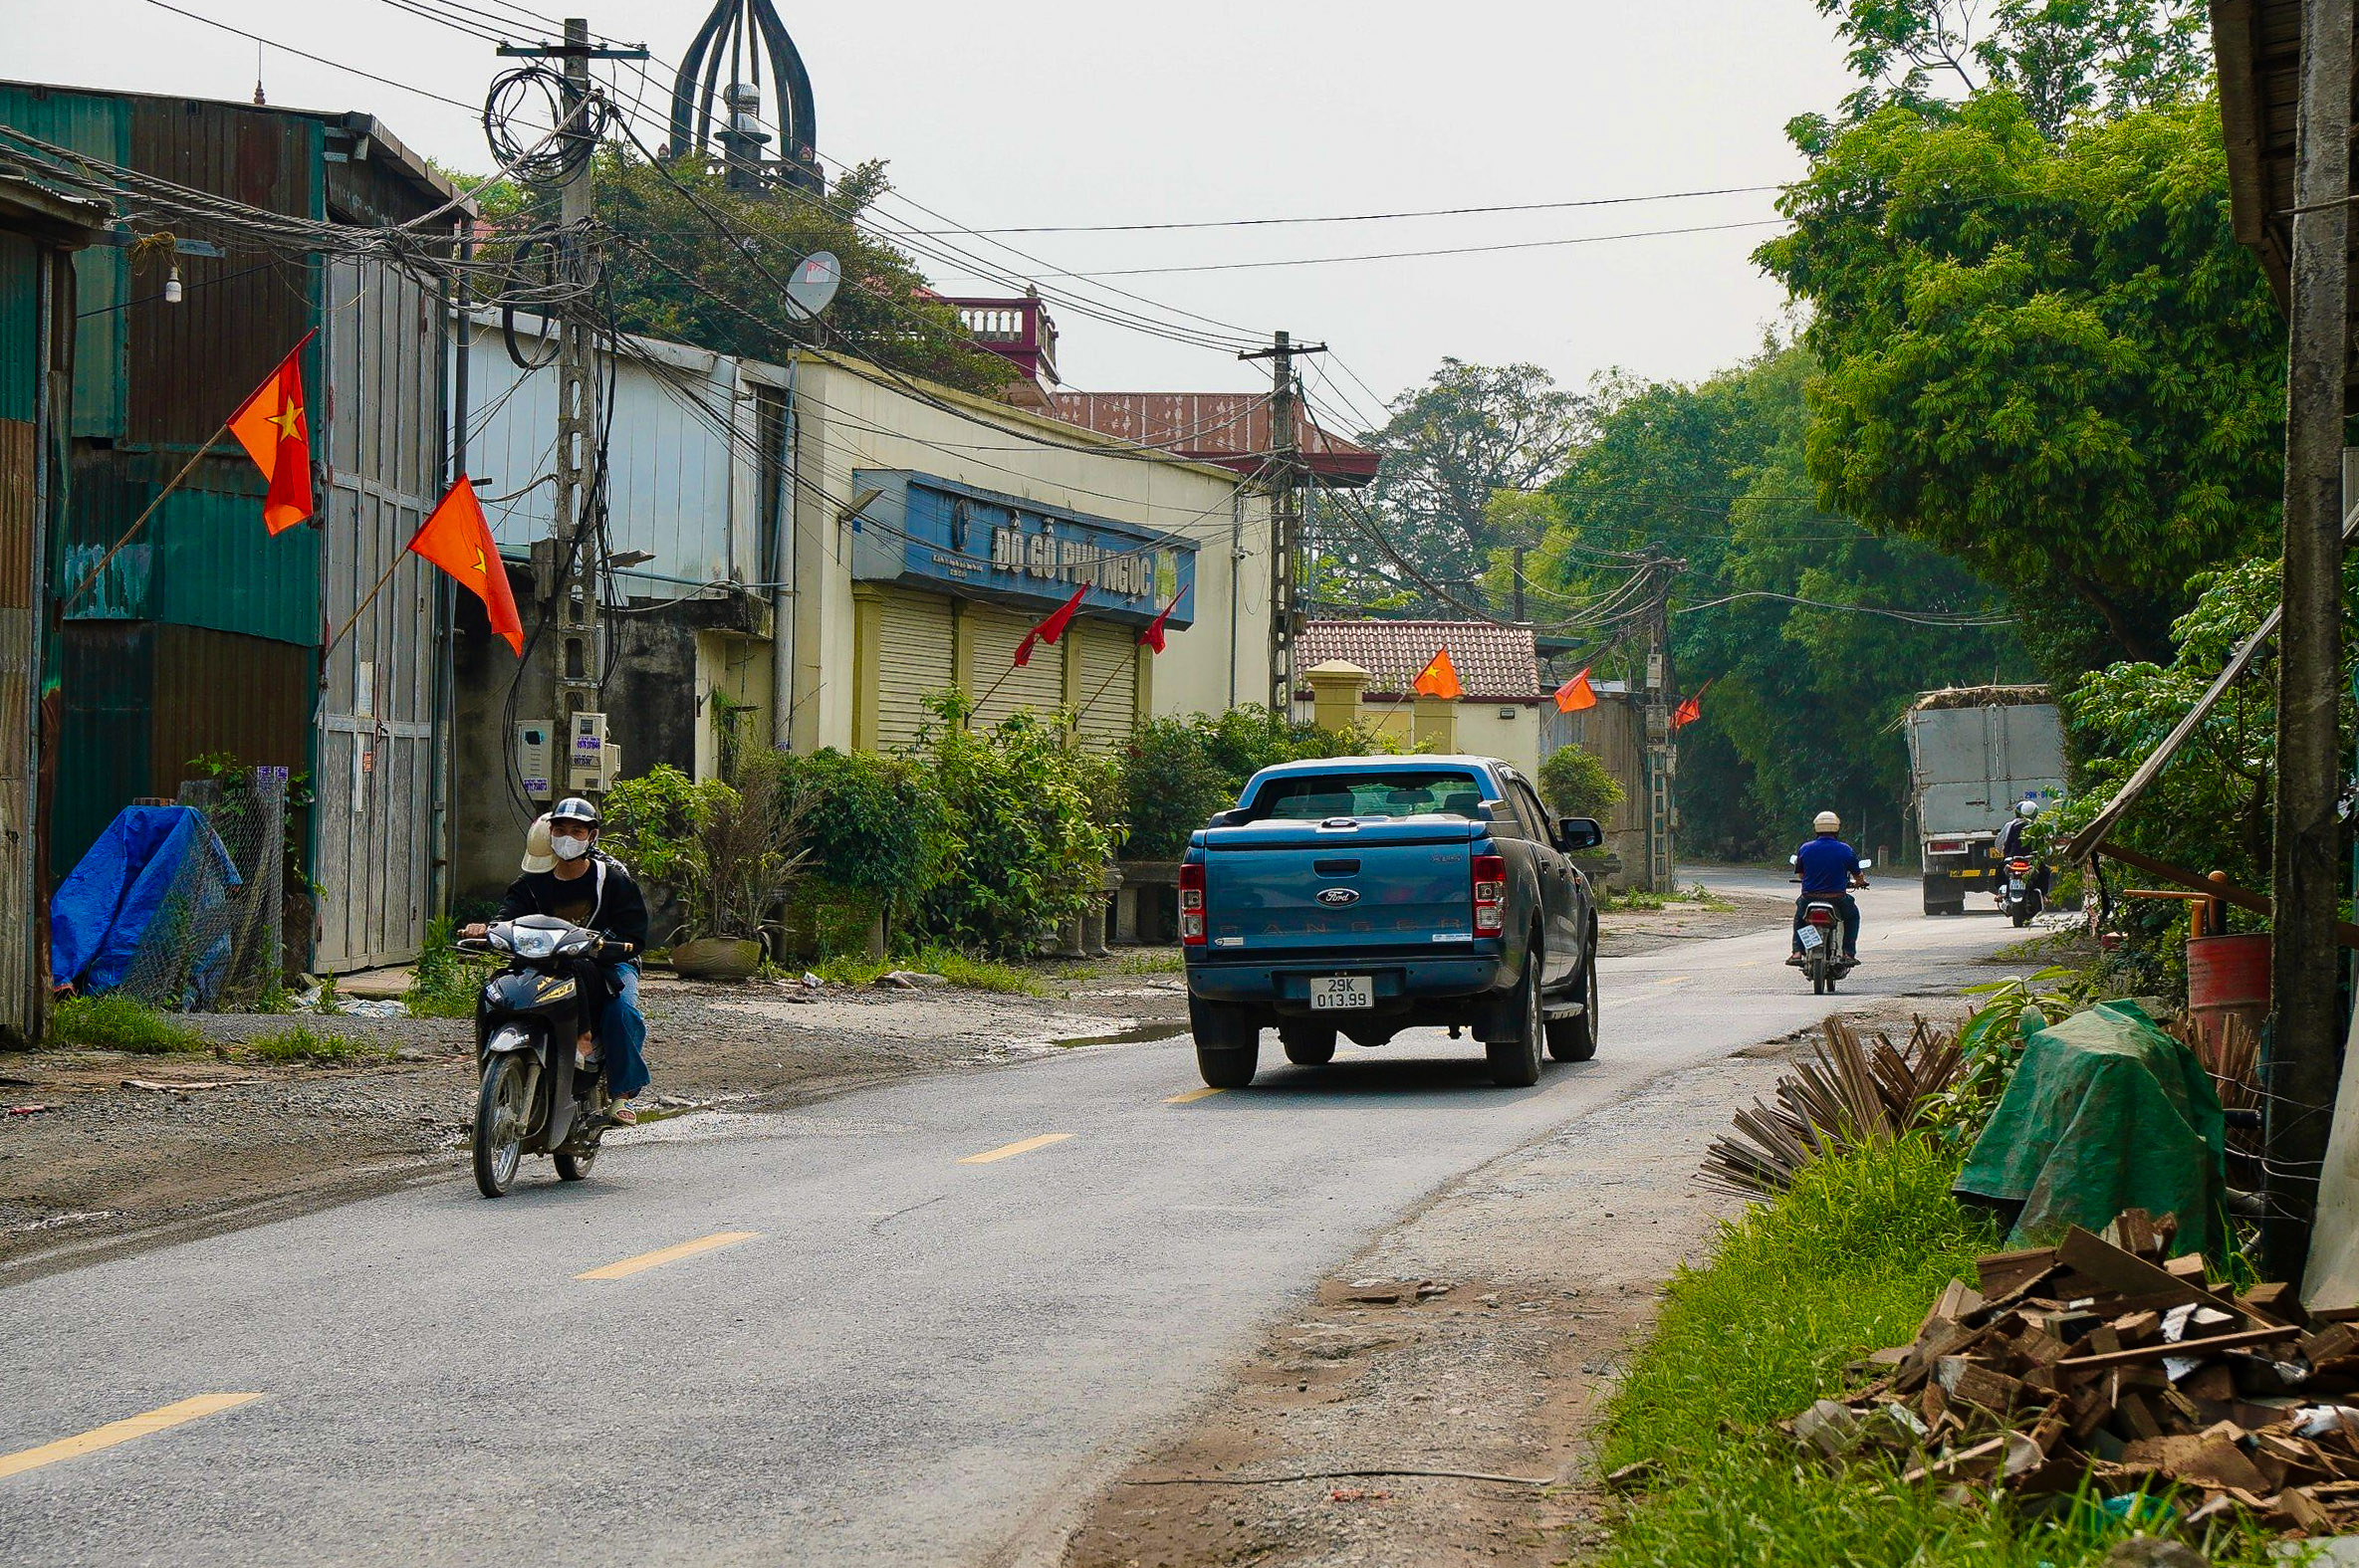
{"label": "large bright green leafy tree canopy above the box truck", "polygon": [[2048,141],[2015,92],[1828,132],[1760,262],[1814,307],[1819,500],[2005,585],[2052,674],[2168,658],[2269,535],[2284,330],[2210,101]]}

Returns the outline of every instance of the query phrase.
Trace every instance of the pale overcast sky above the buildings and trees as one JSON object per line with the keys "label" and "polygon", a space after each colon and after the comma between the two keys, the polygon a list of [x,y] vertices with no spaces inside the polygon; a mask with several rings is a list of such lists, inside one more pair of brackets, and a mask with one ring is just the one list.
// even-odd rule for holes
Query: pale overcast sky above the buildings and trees
{"label": "pale overcast sky above the buildings and trees", "polygon": [[[182,9],[477,101],[491,45],[387,0],[175,0]],[[441,9],[443,0],[415,0]],[[469,0],[514,14],[505,0]],[[564,14],[559,0],[538,12]],[[599,0],[599,33],[677,61],[708,0]],[[1305,217],[1651,196],[1790,179],[1783,123],[1845,92],[1809,0],[1198,0],[1017,7],[778,0],[819,101],[819,151],[887,158],[901,193],[965,226]],[[151,0],[0,0],[0,73],[245,99],[255,45]],[[491,167],[474,113],[264,50],[269,99],[366,108],[427,156]],[[670,71],[663,71],[665,87]],[[767,73],[764,73],[767,75]],[[637,83],[630,83],[637,85]],[[776,116],[776,104],[764,104]],[[906,207],[889,207],[918,219]],[[1168,233],[1010,236],[1050,271],[1510,245],[1772,219],[1772,196]],[[932,222],[932,219],[918,219]],[[1255,335],[1288,328],[1392,396],[1460,358],[1581,384],[1621,365],[1694,380],[1757,347],[1783,295],[1748,259],[1772,229],[1326,266],[1102,278]],[[977,248],[977,241],[960,241]],[[946,290],[991,283],[927,264]],[[1144,309],[1144,307],[1142,307]],[[1231,389],[1224,351],[1059,314],[1083,389]],[[1373,398],[1340,368],[1335,398]],[[1326,396],[1321,391],[1321,396]]]}

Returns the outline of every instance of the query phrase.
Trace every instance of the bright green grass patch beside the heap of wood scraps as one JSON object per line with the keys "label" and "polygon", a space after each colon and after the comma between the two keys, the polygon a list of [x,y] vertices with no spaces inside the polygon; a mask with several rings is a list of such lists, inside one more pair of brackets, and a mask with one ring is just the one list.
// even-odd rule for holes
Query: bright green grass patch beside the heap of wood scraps
{"label": "bright green grass patch beside the heap of wood scraps", "polygon": [[[1772,1427],[1838,1394],[1845,1363],[1904,1344],[1941,1285],[1998,1247],[1951,1200],[1956,1174],[1923,1137],[1826,1160],[1670,1280],[1599,1434],[1606,1469],[1651,1460],[1663,1478],[1623,1509],[1599,1566],[2092,1568],[2121,1540],[2090,1504],[1958,1507],[1890,1467],[1798,1462]],[[2265,1563],[2267,1540],[2234,1526],[2199,1544],[2215,1563]]]}

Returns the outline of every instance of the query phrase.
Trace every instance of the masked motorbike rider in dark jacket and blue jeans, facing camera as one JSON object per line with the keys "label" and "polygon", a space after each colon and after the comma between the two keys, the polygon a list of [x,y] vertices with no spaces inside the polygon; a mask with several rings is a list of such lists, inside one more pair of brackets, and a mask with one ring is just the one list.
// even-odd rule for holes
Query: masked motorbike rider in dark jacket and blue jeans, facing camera
{"label": "masked motorbike rider in dark jacket and blue jeans, facing camera", "polygon": [[[547,823],[547,858],[538,849]],[[630,1127],[637,1113],[632,1096],[646,1087],[646,1016],[639,1012],[639,960],[646,950],[646,896],[620,861],[597,846],[599,816],[580,795],[569,795],[540,821],[526,839],[524,875],[507,884],[493,920],[519,915],[554,915],[590,927],[609,941],[630,943],[632,957],[620,962],[590,960],[580,971],[580,1042],[594,1040],[606,1056],[609,1115]],[[488,927],[472,924],[465,936],[484,936]]]}

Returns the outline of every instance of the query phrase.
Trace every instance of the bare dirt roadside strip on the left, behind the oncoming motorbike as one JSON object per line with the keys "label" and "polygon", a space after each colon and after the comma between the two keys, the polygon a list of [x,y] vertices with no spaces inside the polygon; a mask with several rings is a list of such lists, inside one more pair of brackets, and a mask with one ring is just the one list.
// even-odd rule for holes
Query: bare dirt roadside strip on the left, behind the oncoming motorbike
{"label": "bare dirt roadside strip on the left, behind the oncoming motorbike", "polygon": [[[828,988],[811,997],[651,974],[642,1002],[656,1082],[642,1106],[769,1111],[906,1073],[1184,1028],[1177,974],[1125,974],[1123,960],[1045,974],[1069,995]],[[288,1068],[234,1052],[297,1021],[389,1059]],[[191,1023],[215,1054],[0,1054],[0,1278],[465,1167],[467,1019],[201,1014]]]}

